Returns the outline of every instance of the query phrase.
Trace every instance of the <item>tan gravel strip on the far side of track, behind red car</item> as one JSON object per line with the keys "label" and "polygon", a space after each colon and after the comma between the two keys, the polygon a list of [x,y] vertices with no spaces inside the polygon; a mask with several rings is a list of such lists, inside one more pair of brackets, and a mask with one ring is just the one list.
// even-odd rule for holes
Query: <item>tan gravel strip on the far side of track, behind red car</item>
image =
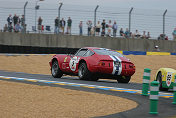
{"label": "tan gravel strip on the far side of track, behind red car", "polygon": [[[34,74],[50,74],[49,61],[52,56],[0,56],[0,70],[26,72]],[[159,68],[176,69],[176,56],[143,56],[128,55],[136,66],[136,73],[130,82],[142,83],[144,68],[150,68],[151,81]]]}

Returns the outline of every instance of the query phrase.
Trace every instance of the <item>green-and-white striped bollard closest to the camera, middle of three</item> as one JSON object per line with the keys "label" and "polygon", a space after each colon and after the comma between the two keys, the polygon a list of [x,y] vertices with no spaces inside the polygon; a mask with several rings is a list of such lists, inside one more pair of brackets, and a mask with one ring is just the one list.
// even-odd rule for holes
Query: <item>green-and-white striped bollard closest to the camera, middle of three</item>
{"label": "green-and-white striped bollard closest to the camera, middle of three", "polygon": [[159,82],[153,81],[150,85],[150,114],[158,114]]}

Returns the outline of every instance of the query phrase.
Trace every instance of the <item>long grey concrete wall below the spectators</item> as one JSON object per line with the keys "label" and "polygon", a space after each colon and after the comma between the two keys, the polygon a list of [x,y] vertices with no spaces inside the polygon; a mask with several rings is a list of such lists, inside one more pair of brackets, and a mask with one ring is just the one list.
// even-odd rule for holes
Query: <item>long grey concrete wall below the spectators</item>
{"label": "long grey concrete wall below the spectators", "polygon": [[[176,41],[150,40],[150,39],[126,39],[96,36],[73,36],[56,34],[21,34],[21,33],[0,33],[1,45],[18,45],[34,47],[61,47],[61,48],[81,48],[81,47],[102,47],[114,50],[125,50],[123,53],[153,55],[157,45],[161,52],[176,53]],[[128,52],[126,52],[128,51]],[[133,52],[130,52],[133,51]],[[169,55],[168,53],[161,53]]]}

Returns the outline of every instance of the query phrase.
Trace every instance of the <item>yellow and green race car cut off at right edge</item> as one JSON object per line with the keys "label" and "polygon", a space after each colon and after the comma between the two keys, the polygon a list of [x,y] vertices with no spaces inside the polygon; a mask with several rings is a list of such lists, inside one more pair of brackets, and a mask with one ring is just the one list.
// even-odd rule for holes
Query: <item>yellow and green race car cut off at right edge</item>
{"label": "yellow and green race car cut off at right edge", "polygon": [[159,90],[164,91],[173,88],[176,70],[172,68],[160,68],[155,77],[155,81],[159,81]]}

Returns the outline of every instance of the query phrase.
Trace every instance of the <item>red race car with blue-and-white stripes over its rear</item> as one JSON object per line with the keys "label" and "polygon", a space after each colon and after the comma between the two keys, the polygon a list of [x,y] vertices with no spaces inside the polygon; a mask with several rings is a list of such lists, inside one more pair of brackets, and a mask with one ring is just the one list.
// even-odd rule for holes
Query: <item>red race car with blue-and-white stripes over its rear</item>
{"label": "red race car with blue-and-white stripes over its rear", "polygon": [[49,64],[54,78],[67,74],[78,75],[81,80],[106,78],[128,83],[135,73],[134,64],[122,54],[96,47],[81,48],[74,55],[54,55]]}

